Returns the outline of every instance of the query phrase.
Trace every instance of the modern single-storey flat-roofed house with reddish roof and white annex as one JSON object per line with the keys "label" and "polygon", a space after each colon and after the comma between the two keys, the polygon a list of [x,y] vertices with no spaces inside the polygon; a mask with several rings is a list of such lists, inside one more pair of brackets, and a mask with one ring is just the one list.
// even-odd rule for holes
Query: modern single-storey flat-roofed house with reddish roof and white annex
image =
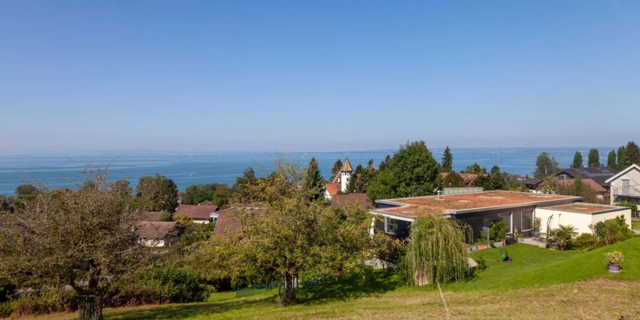
{"label": "modern single-storey flat-roofed house with reddish roof and white annex", "polygon": [[[554,206],[569,205],[579,201],[582,201],[582,197],[513,191],[482,191],[378,200],[375,201],[378,204],[378,208],[371,210],[371,213],[383,217],[383,220],[378,223],[378,230],[383,230],[399,238],[405,238],[409,235],[410,223],[415,218],[432,214],[442,214],[447,218],[459,220],[466,225],[470,225],[474,238],[479,237],[481,230],[485,227],[489,228],[491,222],[496,220],[501,220],[506,224],[509,234],[512,234],[517,228],[518,232],[530,236],[533,231],[533,221],[539,208],[547,210],[544,217],[548,217],[550,211],[558,211],[555,216],[558,217],[563,214],[560,223],[572,224],[576,228],[583,230],[586,220],[582,219],[582,215],[569,215],[564,212],[561,213],[560,211],[562,210],[560,209],[553,208]],[[577,208],[572,209],[578,210]],[[615,212],[615,215],[626,215],[624,208],[602,205],[599,205],[598,210],[590,214],[599,215],[609,212]],[[551,214],[553,215],[554,213]],[[629,210],[630,215],[631,211]],[[610,218],[609,215],[602,215],[602,217]],[[630,221],[628,222],[630,223]]]}

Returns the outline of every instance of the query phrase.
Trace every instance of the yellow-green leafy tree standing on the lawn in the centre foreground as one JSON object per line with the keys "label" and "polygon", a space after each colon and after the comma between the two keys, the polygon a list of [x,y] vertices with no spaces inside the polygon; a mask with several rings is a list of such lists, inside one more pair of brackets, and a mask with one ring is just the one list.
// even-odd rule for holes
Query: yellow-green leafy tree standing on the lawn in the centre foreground
{"label": "yellow-green leafy tree standing on the lawn in the centre foreground", "polygon": [[334,274],[360,264],[368,247],[370,217],[358,206],[334,208],[309,201],[297,191],[303,175],[278,161],[263,181],[267,199],[260,210],[238,210],[242,229],[232,237],[212,238],[191,259],[208,279],[230,278],[234,284],[282,281],[282,304],[297,302],[300,277]]}

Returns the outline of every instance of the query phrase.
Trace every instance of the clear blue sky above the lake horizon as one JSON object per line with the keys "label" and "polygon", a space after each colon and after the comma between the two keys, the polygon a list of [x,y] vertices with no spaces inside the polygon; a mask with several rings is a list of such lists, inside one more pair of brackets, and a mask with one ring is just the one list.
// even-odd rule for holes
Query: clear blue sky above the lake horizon
{"label": "clear blue sky above the lake horizon", "polygon": [[640,1],[1,1],[0,154],[618,146]]}

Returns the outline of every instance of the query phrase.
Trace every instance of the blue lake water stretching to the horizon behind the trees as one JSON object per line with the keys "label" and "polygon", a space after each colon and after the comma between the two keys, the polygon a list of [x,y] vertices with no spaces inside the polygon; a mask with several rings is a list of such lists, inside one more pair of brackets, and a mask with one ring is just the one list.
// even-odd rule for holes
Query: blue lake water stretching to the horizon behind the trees
{"label": "blue lake water stretching to the horizon behind the trees", "polygon": [[[614,148],[598,148],[600,161],[607,163],[607,152]],[[444,149],[430,149],[439,161]],[[511,174],[531,175],[535,170],[535,159],[541,151],[547,151],[555,156],[560,166],[567,167],[573,160],[575,151],[582,151],[587,160],[588,148],[494,148],[494,149],[452,149],[454,169],[464,170],[469,164],[478,162],[490,169],[499,166],[502,171]],[[311,156],[319,162],[321,173],[325,178],[331,176],[331,166],[336,159],[349,161],[355,168],[358,164],[366,166],[369,159],[375,161],[375,166],[387,154],[395,150],[378,151],[341,151],[341,152],[293,152],[282,154],[290,161],[301,165],[306,164]],[[71,187],[77,181],[77,175],[87,166],[108,166],[110,179],[127,178],[132,186],[137,184],[141,176],[161,174],[173,179],[178,188],[183,191],[194,183],[228,183],[232,185],[235,177],[242,175],[242,171],[252,166],[256,173],[258,167],[272,168],[272,161],[277,153],[220,153],[220,154],[167,154],[144,152],[140,154],[85,154],[69,156],[0,156],[0,194],[11,195],[16,186],[25,182],[35,181],[46,186]]]}

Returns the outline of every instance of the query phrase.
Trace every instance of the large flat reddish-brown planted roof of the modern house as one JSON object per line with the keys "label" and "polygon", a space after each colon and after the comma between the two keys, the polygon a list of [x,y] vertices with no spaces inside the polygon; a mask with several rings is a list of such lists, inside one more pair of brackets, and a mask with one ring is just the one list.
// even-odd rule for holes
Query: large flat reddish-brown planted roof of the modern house
{"label": "large flat reddish-brown planted roof of the modern house", "polygon": [[555,206],[582,201],[582,197],[513,191],[482,191],[441,196],[377,200],[373,213],[417,218],[434,213],[460,214],[523,206]]}

